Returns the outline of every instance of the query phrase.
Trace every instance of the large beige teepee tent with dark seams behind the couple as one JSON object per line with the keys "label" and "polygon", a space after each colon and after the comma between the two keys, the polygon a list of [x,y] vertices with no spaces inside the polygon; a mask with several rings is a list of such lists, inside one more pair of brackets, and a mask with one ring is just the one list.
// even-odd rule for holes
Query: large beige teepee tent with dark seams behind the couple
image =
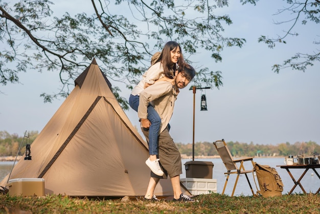
{"label": "large beige teepee tent with dark seams behind the couple", "polygon": [[[8,179],[43,178],[45,194],[144,196],[150,169],[147,143],[112,94],[96,60],[75,80],[75,88],[31,145]],[[184,193],[190,192],[181,184]],[[157,196],[172,196],[161,179]]]}

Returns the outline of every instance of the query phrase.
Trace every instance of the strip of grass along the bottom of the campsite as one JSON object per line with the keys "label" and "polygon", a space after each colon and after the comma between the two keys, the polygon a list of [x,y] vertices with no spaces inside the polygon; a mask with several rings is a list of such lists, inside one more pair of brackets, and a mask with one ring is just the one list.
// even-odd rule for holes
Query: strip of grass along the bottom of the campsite
{"label": "strip of grass along the bottom of the campsite", "polygon": [[320,194],[263,198],[213,193],[194,197],[195,203],[124,199],[0,195],[0,213],[320,213]]}

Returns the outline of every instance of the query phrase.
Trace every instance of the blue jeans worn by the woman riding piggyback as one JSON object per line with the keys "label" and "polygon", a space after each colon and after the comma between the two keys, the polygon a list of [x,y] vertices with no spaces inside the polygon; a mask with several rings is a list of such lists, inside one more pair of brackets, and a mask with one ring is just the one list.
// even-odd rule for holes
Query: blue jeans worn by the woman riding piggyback
{"label": "blue jeans worn by the woman riding piggyback", "polygon": [[[129,105],[138,112],[139,96],[130,94]],[[158,155],[158,135],[160,131],[161,118],[152,105],[148,105],[148,120],[151,122],[149,127],[149,154]]]}

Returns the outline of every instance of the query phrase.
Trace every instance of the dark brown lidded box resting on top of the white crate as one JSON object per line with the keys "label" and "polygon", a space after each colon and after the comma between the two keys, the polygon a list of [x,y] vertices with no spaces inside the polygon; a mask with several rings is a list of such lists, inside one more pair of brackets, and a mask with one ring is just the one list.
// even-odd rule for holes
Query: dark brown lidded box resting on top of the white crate
{"label": "dark brown lidded box resting on top of the white crate", "polygon": [[212,179],[213,163],[210,161],[188,161],[185,169],[187,178]]}

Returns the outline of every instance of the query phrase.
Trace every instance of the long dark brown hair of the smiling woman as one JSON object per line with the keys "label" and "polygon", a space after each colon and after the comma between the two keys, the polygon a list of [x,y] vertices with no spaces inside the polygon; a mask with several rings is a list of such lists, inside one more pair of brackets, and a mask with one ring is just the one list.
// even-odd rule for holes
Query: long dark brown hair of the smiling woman
{"label": "long dark brown hair of the smiling woman", "polygon": [[[170,53],[170,51],[175,50],[177,48],[180,49],[180,57],[177,62],[178,65],[176,65],[176,63],[173,63],[171,61],[171,53]],[[162,49],[162,52],[156,62],[158,62],[158,61],[161,61],[162,66],[164,68],[164,74],[166,77],[168,77],[170,79],[173,79],[174,72],[177,70],[177,68],[179,68],[181,70],[184,70],[184,68],[185,68],[185,60],[182,55],[181,47],[175,41],[168,41],[166,43],[165,47]]]}

